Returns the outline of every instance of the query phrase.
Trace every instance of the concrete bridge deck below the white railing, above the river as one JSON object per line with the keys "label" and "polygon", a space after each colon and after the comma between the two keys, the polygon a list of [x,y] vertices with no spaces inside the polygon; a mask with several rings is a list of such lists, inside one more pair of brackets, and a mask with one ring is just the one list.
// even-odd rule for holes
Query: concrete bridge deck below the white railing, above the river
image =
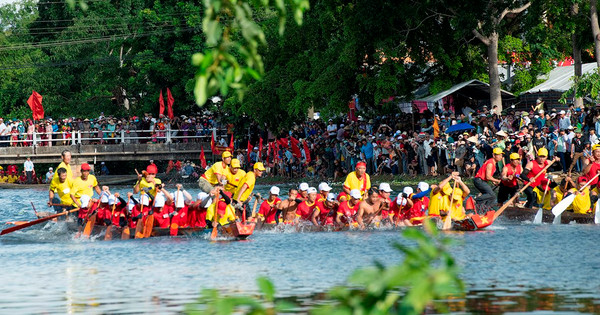
{"label": "concrete bridge deck below the white railing, above the river", "polygon": [[70,150],[72,164],[100,161],[195,160],[204,148],[207,160],[214,161],[210,142],[145,144],[72,144],[60,146],[0,147],[0,164],[22,164],[27,157],[34,163],[58,163],[61,152]]}

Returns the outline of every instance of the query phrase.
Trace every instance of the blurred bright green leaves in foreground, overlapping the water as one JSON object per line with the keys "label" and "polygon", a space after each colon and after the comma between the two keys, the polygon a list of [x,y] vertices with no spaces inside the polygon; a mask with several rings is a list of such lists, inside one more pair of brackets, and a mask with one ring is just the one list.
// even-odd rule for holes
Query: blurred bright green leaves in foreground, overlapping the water
{"label": "blurred bright green leaves in foreground, overlapping the water", "polygon": [[[327,305],[310,309],[312,314],[421,314],[433,305],[438,311],[446,309],[437,300],[461,295],[464,285],[459,268],[447,252],[449,238],[440,235],[431,221],[425,229],[407,229],[404,238],[416,246],[399,243],[394,247],[404,255],[399,265],[359,269],[350,277],[348,286],[331,289]],[[186,307],[188,314],[276,314],[293,312],[296,306],[275,299],[275,288],[266,278],[258,279],[260,296],[222,296],[217,290],[205,290],[195,303]]]}

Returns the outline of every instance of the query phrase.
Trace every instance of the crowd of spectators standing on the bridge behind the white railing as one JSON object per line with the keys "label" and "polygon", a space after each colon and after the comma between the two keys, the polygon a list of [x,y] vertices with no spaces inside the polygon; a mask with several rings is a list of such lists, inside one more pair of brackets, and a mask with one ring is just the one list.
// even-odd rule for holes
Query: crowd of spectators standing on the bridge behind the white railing
{"label": "crowd of spectators standing on the bridge behind the white railing", "polygon": [[[39,121],[0,118],[0,146],[69,145],[73,131],[81,137],[82,144],[165,142],[168,138],[172,142],[200,141],[197,137],[210,135],[214,125],[211,115],[200,114],[173,119],[163,115],[152,117],[150,113],[143,117],[100,114],[92,119],[70,117]],[[167,136],[169,131],[170,137]]]}

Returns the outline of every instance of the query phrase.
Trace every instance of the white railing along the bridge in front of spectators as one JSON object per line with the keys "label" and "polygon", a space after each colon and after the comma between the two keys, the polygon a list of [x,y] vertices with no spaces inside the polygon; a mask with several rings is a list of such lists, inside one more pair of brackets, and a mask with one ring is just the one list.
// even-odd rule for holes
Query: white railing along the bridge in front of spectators
{"label": "white railing along the bridge in front of spectators", "polygon": [[[187,134],[186,134],[187,133]],[[121,143],[173,143],[173,142],[209,142],[215,134],[215,141],[225,137],[229,145],[227,129],[209,129],[198,133],[183,129],[165,130],[118,130],[118,131],[82,131],[70,132],[34,132],[32,134],[19,134],[14,139],[13,135],[0,139],[2,147],[27,147],[27,146],[57,146],[57,145],[89,145],[89,144],[121,144]]]}

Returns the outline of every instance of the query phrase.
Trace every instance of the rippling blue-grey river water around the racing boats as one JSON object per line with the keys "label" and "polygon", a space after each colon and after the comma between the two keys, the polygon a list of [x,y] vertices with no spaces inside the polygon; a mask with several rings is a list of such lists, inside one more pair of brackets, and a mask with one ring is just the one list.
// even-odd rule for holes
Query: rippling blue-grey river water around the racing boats
{"label": "rippling blue-grey river water around the racing boats", "polygon": [[[0,222],[35,219],[30,201],[48,209],[43,189],[0,190],[0,201]],[[452,311],[600,313],[600,226],[500,220],[448,235],[459,241],[451,252],[468,291],[447,302]],[[310,305],[356,268],[400,262],[394,242],[405,242],[399,231],[104,242],[49,223],[0,237],[0,314],[177,313],[202,288],[256,293],[258,276],[273,280],[280,297]]]}

